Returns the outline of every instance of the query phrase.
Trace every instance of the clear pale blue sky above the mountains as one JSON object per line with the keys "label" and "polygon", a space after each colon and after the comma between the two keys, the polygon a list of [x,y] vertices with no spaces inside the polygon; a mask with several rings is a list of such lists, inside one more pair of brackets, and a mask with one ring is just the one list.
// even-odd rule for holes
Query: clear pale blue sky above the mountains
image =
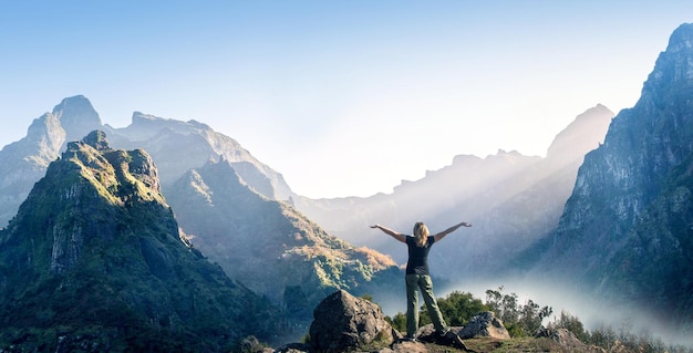
{"label": "clear pale blue sky above the mountains", "polygon": [[545,155],[638,100],[693,1],[2,1],[0,145],[68,96],[237,139],[309,197]]}

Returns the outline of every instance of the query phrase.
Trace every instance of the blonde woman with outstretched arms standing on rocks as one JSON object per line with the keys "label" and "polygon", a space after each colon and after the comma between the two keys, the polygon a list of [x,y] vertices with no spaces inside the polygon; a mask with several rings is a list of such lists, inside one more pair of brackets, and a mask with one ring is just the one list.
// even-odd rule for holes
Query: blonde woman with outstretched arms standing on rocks
{"label": "blonde woman with outstretched arms standing on rocks", "polygon": [[418,330],[418,290],[421,290],[428,315],[435,331],[439,335],[444,335],[449,330],[443,320],[443,314],[438,309],[438,303],[433,294],[433,282],[428,273],[428,251],[431,247],[445,238],[448,233],[457,230],[459,227],[472,227],[468,222],[461,222],[449,227],[434,236],[428,235],[428,228],[424,222],[418,221],[414,225],[414,236],[407,236],[399,231],[394,231],[381,225],[371,226],[377,228],[385,233],[392,236],[396,240],[406,243],[408,248],[408,260],[406,261],[406,336],[407,341],[414,341],[416,330]]}

